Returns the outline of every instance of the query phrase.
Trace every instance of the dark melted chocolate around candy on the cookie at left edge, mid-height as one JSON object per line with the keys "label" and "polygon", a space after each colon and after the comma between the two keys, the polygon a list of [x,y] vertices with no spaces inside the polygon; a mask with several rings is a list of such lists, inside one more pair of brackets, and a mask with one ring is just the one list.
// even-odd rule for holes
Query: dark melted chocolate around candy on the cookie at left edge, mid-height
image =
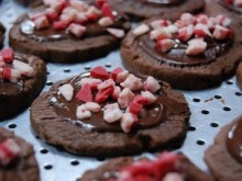
{"label": "dark melted chocolate around candy on the cookie at left edge, mid-height", "polygon": [[[28,63],[26,59],[20,56],[14,56],[14,59]],[[7,67],[12,68],[11,64],[7,64]],[[18,92],[21,92],[24,88],[24,80],[28,79],[26,77],[21,77],[21,80],[19,80],[16,83],[9,82],[4,79],[0,79],[0,94],[7,95],[7,94],[16,94]]]}

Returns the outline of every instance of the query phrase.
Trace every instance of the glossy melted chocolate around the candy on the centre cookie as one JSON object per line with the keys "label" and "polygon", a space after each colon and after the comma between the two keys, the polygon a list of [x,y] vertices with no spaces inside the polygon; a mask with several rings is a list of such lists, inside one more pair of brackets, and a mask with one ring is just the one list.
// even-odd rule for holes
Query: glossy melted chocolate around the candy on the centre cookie
{"label": "glossy melted chocolate around the candy on the centre cookie", "polygon": [[[65,83],[70,83],[74,87],[74,94],[76,94],[80,89],[79,81],[82,78],[88,77],[90,77],[89,73],[84,73]],[[139,78],[142,80],[145,79],[145,77],[142,76],[139,76]],[[162,89],[155,93],[155,97],[157,98],[155,103],[147,105],[142,110],[139,115],[139,123],[132,131],[158,126],[166,121],[167,114],[180,114],[186,112],[186,106],[166,97]],[[64,120],[73,121],[76,125],[94,132],[122,132],[119,122],[110,124],[103,120],[103,106],[114,102],[117,101],[110,98],[108,101],[100,104],[102,108],[100,112],[92,114],[90,118],[78,120],[76,116],[76,109],[84,102],[80,102],[75,98],[70,102],[67,102],[57,91],[55,91],[53,97],[50,99],[50,104],[53,105],[56,113],[62,115]]]}

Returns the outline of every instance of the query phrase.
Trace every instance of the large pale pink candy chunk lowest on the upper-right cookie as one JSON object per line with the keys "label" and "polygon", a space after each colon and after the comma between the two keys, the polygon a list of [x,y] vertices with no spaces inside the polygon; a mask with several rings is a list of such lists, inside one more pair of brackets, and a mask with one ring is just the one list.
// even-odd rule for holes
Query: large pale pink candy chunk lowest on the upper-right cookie
{"label": "large pale pink candy chunk lowest on the upper-right cookie", "polygon": [[198,55],[206,50],[207,43],[202,38],[194,38],[188,42],[188,47],[186,49],[187,55]]}

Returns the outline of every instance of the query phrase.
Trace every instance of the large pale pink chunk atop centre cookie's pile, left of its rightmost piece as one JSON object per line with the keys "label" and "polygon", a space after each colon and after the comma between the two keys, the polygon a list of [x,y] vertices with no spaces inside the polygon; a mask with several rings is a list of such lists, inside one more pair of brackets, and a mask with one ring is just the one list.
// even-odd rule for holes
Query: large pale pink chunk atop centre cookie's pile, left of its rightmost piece
{"label": "large pale pink chunk atop centre cookie's pile, left of its rightmost piece", "polygon": [[135,90],[140,90],[143,83],[138,77],[130,73],[128,78],[122,83],[120,83],[120,86],[135,91]]}

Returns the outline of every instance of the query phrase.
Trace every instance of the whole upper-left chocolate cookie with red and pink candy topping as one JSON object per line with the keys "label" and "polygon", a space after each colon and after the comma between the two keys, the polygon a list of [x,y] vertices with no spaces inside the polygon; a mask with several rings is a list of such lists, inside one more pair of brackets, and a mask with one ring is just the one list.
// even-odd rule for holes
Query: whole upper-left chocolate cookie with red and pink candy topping
{"label": "whole upper-left chocolate cookie with red and pink candy topping", "polygon": [[33,9],[32,14],[19,18],[10,30],[10,45],[45,61],[85,61],[116,49],[130,29],[127,19],[108,3],[99,7],[67,0],[56,3],[46,1]]}

